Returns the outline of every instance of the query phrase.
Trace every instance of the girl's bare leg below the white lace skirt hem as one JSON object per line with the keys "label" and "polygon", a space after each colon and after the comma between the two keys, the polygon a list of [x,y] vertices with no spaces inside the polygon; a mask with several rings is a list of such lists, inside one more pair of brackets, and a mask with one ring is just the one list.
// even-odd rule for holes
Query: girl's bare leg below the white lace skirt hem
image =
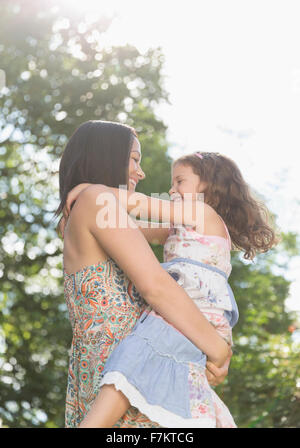
{"label": "girl's bare leg below the white lace skirt hem", "polygon": [[113,384],[101,387],[91,409],[79,428],[111,428],[130,407],[130,403]]}

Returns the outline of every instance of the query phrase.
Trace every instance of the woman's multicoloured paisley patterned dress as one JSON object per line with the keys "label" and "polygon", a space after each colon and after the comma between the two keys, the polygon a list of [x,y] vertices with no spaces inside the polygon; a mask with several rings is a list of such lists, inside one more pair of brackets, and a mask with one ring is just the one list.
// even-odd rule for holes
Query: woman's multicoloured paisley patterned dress
{"label": "woman's multicoloured paisley patterned dress", "polygon": [[[106,360],[131,332],[147,304],[112,259],[72,274],[64,269],[64,293],[73,331],[65,426],[76,428],[99,392]],[[114,427],[159,425],[130,407]]]}

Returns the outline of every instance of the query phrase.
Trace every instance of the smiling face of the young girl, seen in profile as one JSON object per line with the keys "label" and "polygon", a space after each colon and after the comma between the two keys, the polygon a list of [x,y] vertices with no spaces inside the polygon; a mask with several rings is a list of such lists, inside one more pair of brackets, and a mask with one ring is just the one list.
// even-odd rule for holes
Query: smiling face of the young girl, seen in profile
{"label": "smiling face of the young girl, seen in profile", "polygon": [[[194,173],[190,165],[176,163],[172,167],[172,187],[169,195],[174,200],[184,198],[184,193],[192,193],[192,199],[196,199],[196,193],[204,192],[206,183],[200,182],[200,177]],[[195,196],[194,196],[195,195]],[[191,198],[190,196],[188,197]]]}

